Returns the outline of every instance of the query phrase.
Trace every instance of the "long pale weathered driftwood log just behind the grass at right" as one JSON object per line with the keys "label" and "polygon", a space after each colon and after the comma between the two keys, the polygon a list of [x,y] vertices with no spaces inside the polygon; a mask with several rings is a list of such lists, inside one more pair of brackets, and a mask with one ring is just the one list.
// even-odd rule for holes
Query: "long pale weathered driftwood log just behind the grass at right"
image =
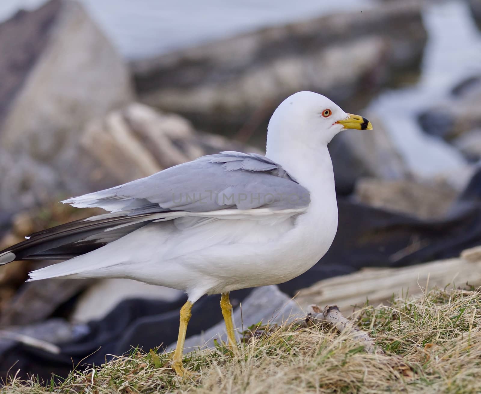
{"label": "long pale weathered driftwood log just behind the grass at right", "polygon": [[460,258],[403,268],[365,268],[353,274],[321,280],[300,290],[295,299],[301,307],[312,303],[335,304],[341,310],[352,310],[354,305],[363,306],[366,300],[371,305],[388,303],[394,292],[415,295],[434,286],[444,288],[467,283],[481,285],[481,247],[465,250]]}

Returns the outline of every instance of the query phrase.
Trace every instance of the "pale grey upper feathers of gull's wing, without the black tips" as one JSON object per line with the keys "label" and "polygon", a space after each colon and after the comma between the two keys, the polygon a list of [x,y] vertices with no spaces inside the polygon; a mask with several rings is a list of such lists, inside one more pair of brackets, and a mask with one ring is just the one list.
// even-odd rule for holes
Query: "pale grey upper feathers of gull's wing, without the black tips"
{"label": "pale grey upper feathers of gull's wing, without the black tips", "polygon": [[307,189],[265,156],[221,152],[63,203],[139,215],[221,209],[302,209],[310,203],[310,196]]}

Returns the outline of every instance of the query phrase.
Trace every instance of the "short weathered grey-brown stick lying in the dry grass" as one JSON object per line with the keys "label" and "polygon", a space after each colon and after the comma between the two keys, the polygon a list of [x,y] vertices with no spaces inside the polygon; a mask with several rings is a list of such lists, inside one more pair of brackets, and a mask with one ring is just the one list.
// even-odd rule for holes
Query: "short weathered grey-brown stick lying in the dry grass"
{"label": "short weathered grey-brown stick lying in the dry grass", "polygon": [[384,354],[382,349],[376,346],[367,332],[354,327],[354,324],[351,321],[342,316],[341,311],[336,305],[328,305],[324,308],[324,310],[321,310],[319,306],[313,304],[307,307],[307,311],[307,325],[327,323],[334,327],[337,332],[350,333],[352,334],[354,340],[363,342],[364,348],[368,353]]}

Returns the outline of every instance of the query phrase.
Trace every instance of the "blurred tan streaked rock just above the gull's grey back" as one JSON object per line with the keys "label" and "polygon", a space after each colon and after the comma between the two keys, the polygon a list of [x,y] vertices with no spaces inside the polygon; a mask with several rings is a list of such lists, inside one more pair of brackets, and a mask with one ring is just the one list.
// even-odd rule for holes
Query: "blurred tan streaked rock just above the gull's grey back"
{"label": "blurred tan streaked rock just above the gull's grey back", "polygon": [[89,123],[72,158],[83,189],[98,190],[149,176],[172,165],[219,151],[256,151],[224,137],[194,130],[176,114],[139,103]]}

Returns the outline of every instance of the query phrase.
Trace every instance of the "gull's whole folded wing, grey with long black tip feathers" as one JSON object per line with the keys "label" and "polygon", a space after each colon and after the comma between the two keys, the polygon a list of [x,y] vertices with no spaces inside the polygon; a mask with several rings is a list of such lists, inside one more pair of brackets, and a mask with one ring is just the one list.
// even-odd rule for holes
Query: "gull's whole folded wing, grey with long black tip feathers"
{"label": "gull's whole folded wing, grey with long black tip feathers", "polygon": [[28,240],[1,251],[0,265],[22,259],[75,257],[148,223],[180,216],[292,216],[304,212],[309,202],[309,192],[265,156],[222,152],[63,201],[111,213],[32,234]]}

